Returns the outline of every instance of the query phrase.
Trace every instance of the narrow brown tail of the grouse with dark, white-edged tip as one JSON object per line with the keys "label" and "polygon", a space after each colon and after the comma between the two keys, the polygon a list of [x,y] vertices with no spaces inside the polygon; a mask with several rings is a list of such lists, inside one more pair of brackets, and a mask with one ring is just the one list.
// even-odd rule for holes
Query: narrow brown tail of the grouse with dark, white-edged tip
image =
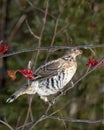
{"label": "narrow brown tail of the grouse with dark, white-edged tip", "polygon": [[13,93],[13,94],[10,96],[10,98],[8,98],[8,99],[6,100],[6,102],[11,103],[11,102],[13,102],[16,98],[18,98],[19,96],[25,94],[27,87],[28,87],[28,86],[27,86],[26,84],[25,84],[24,86],[22,86],[22,87],[21,87],[20,89],[18,89],[15,93]]}

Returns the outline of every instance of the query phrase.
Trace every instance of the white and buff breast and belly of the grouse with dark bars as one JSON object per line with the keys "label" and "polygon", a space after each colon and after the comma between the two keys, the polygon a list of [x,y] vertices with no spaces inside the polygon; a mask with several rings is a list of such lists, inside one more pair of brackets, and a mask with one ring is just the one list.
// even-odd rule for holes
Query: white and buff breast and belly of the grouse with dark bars
{"label": "white and buff breast and belly of the grouse with dark bars", "polygon": [[56,75],[46,78],[39,83],[39,95],[51,95],[60,91],[73,77],[76,66],[59,70]]}

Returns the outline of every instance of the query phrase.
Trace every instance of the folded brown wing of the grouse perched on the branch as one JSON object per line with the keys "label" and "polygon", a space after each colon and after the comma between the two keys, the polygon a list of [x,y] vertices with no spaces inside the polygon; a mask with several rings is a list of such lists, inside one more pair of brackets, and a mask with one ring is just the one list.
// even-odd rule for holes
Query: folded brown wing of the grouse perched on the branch
{"label": "folded brown wing of the grouse perched on the branch", "polygon": [[47,78],[57,74],[58,70],[61,68],[61,60],[54,60],[46,63],[45,65],[40,66],[35,72],[39,78]]}

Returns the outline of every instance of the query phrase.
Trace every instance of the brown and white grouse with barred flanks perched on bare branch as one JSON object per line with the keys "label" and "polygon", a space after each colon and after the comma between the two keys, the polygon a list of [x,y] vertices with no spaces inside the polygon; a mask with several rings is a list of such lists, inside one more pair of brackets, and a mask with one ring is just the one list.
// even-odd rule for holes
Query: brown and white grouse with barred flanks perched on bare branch
{"label": "brown and white grouse with barred flanks perched on bare branch", "polygon": [[41,65],[34,71],[35,78],[21,86],[6,102],[11,103],[23,94],[36,93],[42,100],[49,102],[50,95],[61,92],[71,81],[77,70],[76,57],[80,54],[81,49],[69,49],[62,57]]}

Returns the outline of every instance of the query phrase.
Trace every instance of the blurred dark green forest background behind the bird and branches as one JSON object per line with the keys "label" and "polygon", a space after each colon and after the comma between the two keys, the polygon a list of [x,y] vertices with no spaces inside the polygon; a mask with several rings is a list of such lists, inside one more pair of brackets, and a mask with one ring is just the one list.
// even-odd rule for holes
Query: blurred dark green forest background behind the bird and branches
{"label": "blurred dark green forest background behind the bird and branches", "polygon": [[[65,49],[52,51],[30,51],[37,47],[97,45],[104,43],[104,1],[103,0],[0,0],[0,40],[4,40],[7,53],[20,51],[17,55],[0,59],[0,130],[29,130],[29,122],[37,121],[44,113],[47,104],[38,95],[33,96],[31,112],[29,96],[23,95],[13,103],[6,99],[24,82],[26,78],[17,73],[11,80],[7,70],[27,68],[32,60],[32,69],[46,61],[61,57]],[[104,48],[83,49],[77,58],[78,70],[73,81],[85,70],[89,57],[100,60]],[[67,87],[70,87],[69,83]],[[100,120],[104,118],[104,66],[96,69],[67,94],[61,96],[50,113],[81,120]],[[27,117],[27,119],[26,119]],[[3,125],[10,125],[8,128]],[[27,126],[23,124],[27,123]],[[46,119],[37,123],[33,130],[103,130],[104,122],[76,123]]]}

